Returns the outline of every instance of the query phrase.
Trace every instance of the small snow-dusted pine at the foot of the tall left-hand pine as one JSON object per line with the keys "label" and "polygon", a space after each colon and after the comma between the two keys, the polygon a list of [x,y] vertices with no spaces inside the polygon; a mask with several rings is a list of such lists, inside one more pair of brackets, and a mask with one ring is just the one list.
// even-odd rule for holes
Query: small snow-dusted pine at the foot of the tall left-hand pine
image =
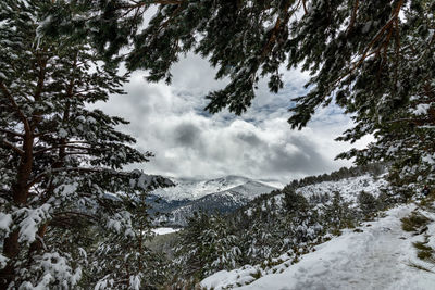
{"label": "small snow-dusted pine at the foot of the tall left-hand pine", "polygon": [[95,289],[157,289],[166,280],[166,261],[147,245],[154,237],[147,194],[121,198],[127,206],[120,214],[129,215],[130,224],[121,225],[120,231],[101,232],[107,236],[89,257],[94,261],[89,276],[99,279],[89,282]]}

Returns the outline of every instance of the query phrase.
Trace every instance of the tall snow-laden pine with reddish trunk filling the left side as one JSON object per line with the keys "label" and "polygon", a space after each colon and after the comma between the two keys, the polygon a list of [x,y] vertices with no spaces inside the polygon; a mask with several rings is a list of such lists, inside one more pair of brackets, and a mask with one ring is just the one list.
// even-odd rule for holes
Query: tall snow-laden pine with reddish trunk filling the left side
{"label": "tall snow-laden pine with reddish trunk filling the left side", "polygon": [[87,104],[123,93],[127,76],[101,62],[86,36],[42,36],[51,4],[0,3],[1,289],[79,287],[105,235],[137,238],[136,216],[116,194],[167,184],[121,171],[152,154],[133,149],[135,140],[115,129],[125,121]]}

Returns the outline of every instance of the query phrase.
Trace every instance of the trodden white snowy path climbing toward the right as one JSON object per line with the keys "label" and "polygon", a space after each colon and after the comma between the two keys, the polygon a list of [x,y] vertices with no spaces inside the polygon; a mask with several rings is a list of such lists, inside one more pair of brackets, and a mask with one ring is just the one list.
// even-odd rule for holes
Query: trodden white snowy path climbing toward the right
{"label": "trodden white snowy path climbing toward the right", "polygon": [[435,275],[409,266],[415,255],[401,229],[410,206],[347,232],[307,254],[282,274],[268,275],[241,289],[435,289]]}

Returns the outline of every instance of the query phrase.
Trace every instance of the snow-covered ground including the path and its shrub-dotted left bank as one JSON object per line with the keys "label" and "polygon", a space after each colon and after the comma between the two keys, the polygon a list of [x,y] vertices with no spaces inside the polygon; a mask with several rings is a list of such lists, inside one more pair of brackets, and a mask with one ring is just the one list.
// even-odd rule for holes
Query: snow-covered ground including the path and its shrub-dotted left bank
{"label": "snow-covered ground including the path and its shrub-dotted left bank", "polygon": [[[400,218],[408,216],[414,204],[400,205],[386,212],[376,222],[364,223],[356,232],[345,230],[341,236],[315,247],[291,265],[289,261],[262,270],[246,265],[231,272],[222,270],[206,278],[201,286],[215,290],[239,289],[435,289],[435,273],[412,267],[421,265],[412,242],[422,241],[422,235],[403,231]],[[435,215],[425,213],[432,219]],[[433,237],[435,223],[426,235]],[[426,236],[427,237],[427,236]],[[434,242],[431,238],[430,243]],[[285,260],[285,255],[283,256]],[[432,270],[434,264],[425,263]],[[261,273],[261,275],[260,275]],[[257,279],[254,277],[262,276]],[[247,285],[249,283],[249,285]]]}

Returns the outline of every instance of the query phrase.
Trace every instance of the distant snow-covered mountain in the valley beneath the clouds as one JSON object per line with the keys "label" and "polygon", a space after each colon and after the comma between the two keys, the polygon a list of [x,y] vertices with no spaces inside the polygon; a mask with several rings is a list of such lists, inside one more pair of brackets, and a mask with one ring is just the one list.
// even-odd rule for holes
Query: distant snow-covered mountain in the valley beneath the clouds
{"label": "distant snow-covered mountain in the valley beneath the clouds", "polygon": [[152,212],[165,214],[159,220],[184,226],[195,211],[228,213],[256,197],[275,190],[275,187],[241,177],[225,176],[209,180],[173,178],[174,187],[151,192]]}

